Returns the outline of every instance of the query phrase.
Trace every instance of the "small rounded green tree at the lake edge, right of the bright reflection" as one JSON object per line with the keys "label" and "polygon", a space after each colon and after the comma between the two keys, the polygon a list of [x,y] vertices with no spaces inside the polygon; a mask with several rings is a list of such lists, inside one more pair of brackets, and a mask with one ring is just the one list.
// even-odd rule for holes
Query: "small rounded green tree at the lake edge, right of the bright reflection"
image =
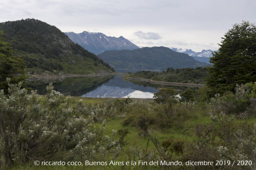
{"label": "small rounded green tree at the lake edge, right of the bright reflection", "polygon": [[168,99],[173,99],[175,100],[177,97],[176,95],[176,90],[172,87],[166,87],[166,88],[162,88],[159,90],[159,92],[154,93],[154,100],[157,103],[166,103],[168,101]]}

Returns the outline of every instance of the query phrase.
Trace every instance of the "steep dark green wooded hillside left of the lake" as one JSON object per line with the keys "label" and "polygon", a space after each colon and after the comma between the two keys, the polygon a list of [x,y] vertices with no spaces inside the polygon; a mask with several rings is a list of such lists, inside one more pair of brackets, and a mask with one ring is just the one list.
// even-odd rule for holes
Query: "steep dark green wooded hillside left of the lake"
{"label": "steep dark green wooded hillside left of the lake", "polygon": [[93,74],[113,69],[93,53],[72,42],[55,26],[26,19],[0,23],[7,41],[13,41],[14,55],[25,55],[27,71],[65,74]]}

